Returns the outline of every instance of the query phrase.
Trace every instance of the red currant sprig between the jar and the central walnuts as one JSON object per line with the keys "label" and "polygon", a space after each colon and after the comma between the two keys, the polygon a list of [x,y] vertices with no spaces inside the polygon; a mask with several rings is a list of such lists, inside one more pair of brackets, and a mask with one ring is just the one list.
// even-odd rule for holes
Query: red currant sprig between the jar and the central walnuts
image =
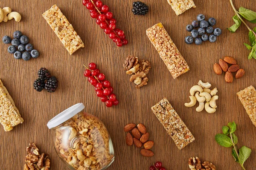
{"label": "red currant sprig between the jar and the central walnuts", "polygon": [[116,95],[113,94],[113,88],[108,80],[105,79],[105,75],[100,73],[99,69],[96,68],[96,64],[91,62],[89,68],[85,65],[86,70],[84,76],[88,77],[88,81],[94,86],[96,95],[100,97],[102,102],[105,102],[107,107],[112,105],[118,105],[119,101],[116,99]]}

